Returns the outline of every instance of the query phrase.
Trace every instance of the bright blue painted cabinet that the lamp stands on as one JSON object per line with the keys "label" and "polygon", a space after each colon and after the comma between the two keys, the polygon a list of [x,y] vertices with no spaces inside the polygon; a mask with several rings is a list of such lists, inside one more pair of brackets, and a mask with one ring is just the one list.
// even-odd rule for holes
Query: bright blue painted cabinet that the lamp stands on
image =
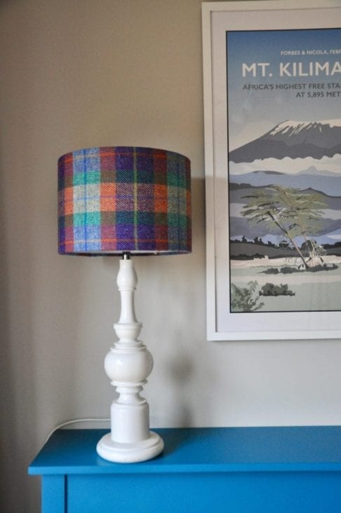
{"label": "bright blue painted cabinet that the lamp stands on", "polygon": [[29,474],[43,513],[340,513],[341,427],[157,430],[143,463],[102,460],[106,430],[58,430]]}

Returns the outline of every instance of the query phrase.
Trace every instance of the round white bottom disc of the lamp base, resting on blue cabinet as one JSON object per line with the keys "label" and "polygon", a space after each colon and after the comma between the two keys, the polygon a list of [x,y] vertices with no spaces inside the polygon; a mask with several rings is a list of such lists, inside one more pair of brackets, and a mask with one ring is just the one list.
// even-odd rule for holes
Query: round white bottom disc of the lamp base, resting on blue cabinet
{"label": "round white bottom disc of the lamp base, resting on blue cabinet", "polygon": [[159,456],[163,451],[163,440],[154,431],[149,431],[149,437],[141,442],[122,444],[114,442],[111,434],[108,433],[100,439],[96,450],[105,460],[116,463],[138,463]]}

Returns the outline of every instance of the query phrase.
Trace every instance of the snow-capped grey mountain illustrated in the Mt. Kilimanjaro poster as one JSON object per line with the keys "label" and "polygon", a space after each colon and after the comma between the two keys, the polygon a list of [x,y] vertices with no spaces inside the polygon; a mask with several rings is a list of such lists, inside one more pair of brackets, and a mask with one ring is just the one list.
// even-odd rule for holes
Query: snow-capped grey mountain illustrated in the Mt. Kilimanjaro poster
{"label": "snow-capped grey mountain illustrated in the Mt. Kilimanjaro poster", "polygon": [[229,152],[233,163],[266,158],[333,157],[341,153],[341,119],[283,121],[261,137]]}

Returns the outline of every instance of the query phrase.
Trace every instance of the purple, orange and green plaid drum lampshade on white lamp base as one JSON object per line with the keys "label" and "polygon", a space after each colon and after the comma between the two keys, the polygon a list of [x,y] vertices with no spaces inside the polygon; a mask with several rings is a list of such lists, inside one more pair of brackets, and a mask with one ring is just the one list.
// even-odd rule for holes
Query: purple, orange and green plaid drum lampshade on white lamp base
{"label": "purple, orange and green plaid drum lampshade on white lamp base", "polygon": [[61,156],[58,249],[60,254],[190,252],[189,159],[130,146]]}

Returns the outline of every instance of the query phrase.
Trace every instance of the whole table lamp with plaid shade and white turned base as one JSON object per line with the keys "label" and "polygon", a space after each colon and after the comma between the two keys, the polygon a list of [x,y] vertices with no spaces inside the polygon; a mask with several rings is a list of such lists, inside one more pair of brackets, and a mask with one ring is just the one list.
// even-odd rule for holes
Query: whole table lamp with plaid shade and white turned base
{"label": "whole table lamp with plaid shade and white turned base", "polygon": [[105,357],[119,396],[111,407],[111,431],[97,445],[109,461],[149,460],[163,450],[161,437],[149,430],[149,405],[140,396],[153,359],[138,340],[142,324],[135,317],[131,255],[191,252],[190,191],[189,159],[173,151],[95,147],[58,160],[59,253],[121,255],[121,315],[114,324],[119,341]]}

